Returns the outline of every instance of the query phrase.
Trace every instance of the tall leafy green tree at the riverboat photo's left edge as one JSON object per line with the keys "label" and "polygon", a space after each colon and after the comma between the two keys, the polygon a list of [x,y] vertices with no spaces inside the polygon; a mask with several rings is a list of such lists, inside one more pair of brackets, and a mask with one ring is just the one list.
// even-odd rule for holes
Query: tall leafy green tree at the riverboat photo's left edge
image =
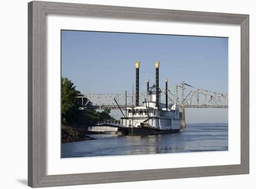
{"label": "tall leafy green tree at the riverboat photo's left edge", "polygon": [[77,95],[80,92],[75,89],[74,83],[67,77],[61,77],[61,116],[62,123],[72,124],[78,111]]}

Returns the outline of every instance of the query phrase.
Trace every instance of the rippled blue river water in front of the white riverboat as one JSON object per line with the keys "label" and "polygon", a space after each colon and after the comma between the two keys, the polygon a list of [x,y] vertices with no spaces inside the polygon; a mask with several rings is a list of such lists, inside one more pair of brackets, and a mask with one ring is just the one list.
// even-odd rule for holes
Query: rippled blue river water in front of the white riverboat
{"label": "rippled blue river water in front of the white riverboat", "polygon": [[151,136],[89,135],[96,140],[65,143],[61,157],[121,156],[227,151],[228,124],[187,124],[180,133]]}

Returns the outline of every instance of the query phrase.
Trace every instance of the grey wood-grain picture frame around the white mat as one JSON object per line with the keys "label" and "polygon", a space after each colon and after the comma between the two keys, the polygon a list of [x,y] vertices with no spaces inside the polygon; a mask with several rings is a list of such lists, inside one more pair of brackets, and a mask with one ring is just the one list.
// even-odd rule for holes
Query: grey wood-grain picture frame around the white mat
{"label": "grey wood-grain picture frame around the white mat", "polygon": [[[241,164],[46,175],[46,15],[222,23],[241,26]],[[249,15],[60,2],[28,3],[28,186],[119,183],[249,174]]]}

